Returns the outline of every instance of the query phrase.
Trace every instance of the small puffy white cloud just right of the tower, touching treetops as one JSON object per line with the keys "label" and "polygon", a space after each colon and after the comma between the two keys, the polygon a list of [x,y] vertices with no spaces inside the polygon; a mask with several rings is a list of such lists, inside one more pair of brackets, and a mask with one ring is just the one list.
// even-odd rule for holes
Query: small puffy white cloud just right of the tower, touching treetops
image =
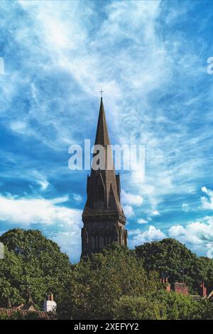
{"label": "small puffy white cloud just right of the tower, touching treetops", "polygon": [[130,243],[134,247],[139,244],[144,244],[145,242],[164,239],[165,237],[166,235],[162,231],[151,225],[145,232],[140,232],[135,235],[133,239],[131,239]]}

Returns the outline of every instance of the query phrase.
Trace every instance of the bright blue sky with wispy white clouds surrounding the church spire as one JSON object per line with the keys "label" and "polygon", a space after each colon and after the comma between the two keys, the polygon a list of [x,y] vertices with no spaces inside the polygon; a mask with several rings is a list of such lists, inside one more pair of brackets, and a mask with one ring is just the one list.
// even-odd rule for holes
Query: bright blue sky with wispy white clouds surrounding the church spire
{"label": "bright blue sky with wispy white clouds surrounding the church spire", "polygon": [[111,144],[143,144],[121,171],[129,247],[173,237],[213,257],[212,1],[0,1],[0,233],[39,229],[80,259],[104,90]]}

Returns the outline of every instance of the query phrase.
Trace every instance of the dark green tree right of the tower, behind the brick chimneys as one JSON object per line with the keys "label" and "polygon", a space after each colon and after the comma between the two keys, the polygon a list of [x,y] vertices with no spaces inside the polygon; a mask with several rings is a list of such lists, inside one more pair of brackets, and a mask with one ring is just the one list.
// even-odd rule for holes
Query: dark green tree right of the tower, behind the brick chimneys
{"label": "dark green tree right of the tower, behind the brick chimneys", "polygon": [[197,293],[198,281],[207,286],[213,284],[213,260],[197,257],[184,244],[175,239],[163,239],[160,242],[147,242],[136,247],[136,254],[143,260],[146,270],[158,271],[161,277],[168,277],[170,282],[184,278],[190,291]]}

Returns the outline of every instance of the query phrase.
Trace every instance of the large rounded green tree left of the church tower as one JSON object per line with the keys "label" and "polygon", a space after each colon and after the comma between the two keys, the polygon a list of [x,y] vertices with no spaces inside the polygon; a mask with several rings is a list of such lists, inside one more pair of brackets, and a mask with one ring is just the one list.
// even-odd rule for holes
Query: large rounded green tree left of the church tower
{"label": "large rounded green tree left of the church tower", "polygon": [[31,289],[40,309],[47,293],[58,293],[70,276],[71,265],[55,242],[38,230],[13,229],[1,235],[5,258],[0,260],[0,304],[11,296],[13,304],[27,301]]}

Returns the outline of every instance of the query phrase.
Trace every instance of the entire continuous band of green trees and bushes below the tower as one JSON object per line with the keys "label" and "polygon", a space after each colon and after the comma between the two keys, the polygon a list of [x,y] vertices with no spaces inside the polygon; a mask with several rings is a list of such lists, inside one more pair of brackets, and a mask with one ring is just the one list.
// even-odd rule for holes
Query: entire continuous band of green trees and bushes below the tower
{"label": "entire continuous band of green trees and bushes below the tower", "polygon": [[[0,303],[11,296],[13,305],[27,301],[31,288],[35,307],[54,293],[60,318],[74,319],[212,319],[213,304],[163,290],[160,276],[185,281],[191,289],[197,280],[212,284],[212,260],[196,257],[174,239],[151,242],[136,252],[112,244],[88,262],[71,266],[55,242],[37,230],[10,230],[0,237],[5,259],[0,261]],[[15,312],[0,319],[32,319]]]}

